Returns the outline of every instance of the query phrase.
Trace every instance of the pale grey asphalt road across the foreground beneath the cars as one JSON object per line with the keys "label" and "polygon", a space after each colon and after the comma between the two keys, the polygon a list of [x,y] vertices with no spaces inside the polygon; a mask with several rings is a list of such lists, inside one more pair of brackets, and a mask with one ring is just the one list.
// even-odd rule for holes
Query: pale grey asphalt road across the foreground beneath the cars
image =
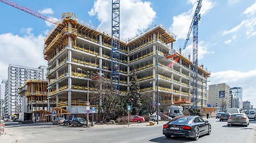
{"label": "pale grey asphalt road across the foreground beneath the cars", "polygon": [[256,142],[256,121],[250,120],[248,127],[228,127],[226,121],[218,119],[209,119],[209,122],[212,125],[211,135],[203,135],[197,141],[182,137],[165,138],[162,135],[164,122],[154,126],[143,123],[130,127],[96,125],[90,128],[10,122],[5,124],[6,134],[0,137],[0,142]]}

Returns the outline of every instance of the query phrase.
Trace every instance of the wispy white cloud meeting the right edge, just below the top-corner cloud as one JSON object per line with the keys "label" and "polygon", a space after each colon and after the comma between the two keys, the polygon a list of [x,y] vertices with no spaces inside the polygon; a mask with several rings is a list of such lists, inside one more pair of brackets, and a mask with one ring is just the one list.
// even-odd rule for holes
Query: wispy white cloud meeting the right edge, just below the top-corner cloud
{"label": "wispy white cloud meeting the right edge, just below the top-corner cloud", "polygon": [[254,27],[256,26],[256,18],[249,18],[243,20],[240,24],[238,24],[236,27],[230,29],[229,31],[225,30],[223,31],[222,35],[230,34],[232,32],[236,32],[242,28],[245,28],[247,38],[252,37],[256,35],[256,31],[254,30]]}

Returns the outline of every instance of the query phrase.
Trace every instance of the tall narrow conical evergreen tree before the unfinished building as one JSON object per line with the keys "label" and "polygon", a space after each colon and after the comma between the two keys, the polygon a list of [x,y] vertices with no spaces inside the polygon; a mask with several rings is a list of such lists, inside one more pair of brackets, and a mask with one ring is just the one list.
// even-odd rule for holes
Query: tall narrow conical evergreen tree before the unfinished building
{"label": "tall narrow conical evergreen tree before the unfinished building", "polygon": [[137,80],[137,75],[135,74],[135,70],[132,72],[132,80],[130,84],[130,90],[128,92],[128,103],[132,107],[131,114],[132,115],[138,115],[142,111],[142,98],[141,94],[139,94],[139,83]]}

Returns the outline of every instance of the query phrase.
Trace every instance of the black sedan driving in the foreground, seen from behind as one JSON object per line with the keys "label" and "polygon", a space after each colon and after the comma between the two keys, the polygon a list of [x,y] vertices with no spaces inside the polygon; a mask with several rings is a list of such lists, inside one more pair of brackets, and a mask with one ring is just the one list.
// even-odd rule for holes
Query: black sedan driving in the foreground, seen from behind
{"label": "black sedan driving in the foreground, seen from behind", "polygon": [[204,121],[199,116],[173,118],[163,125],[163,134],[166,138],[176,135],[198,140],[200,135],[211,134],[211,124],[208,121]]}

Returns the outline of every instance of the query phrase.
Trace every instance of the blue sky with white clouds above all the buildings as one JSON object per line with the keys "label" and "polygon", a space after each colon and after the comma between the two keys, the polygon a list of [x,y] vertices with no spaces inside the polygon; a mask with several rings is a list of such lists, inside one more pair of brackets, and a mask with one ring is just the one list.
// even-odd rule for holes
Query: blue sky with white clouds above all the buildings
{"label": "blue sky with white clouds above all the buildings", "polygon": [[[73,12],[84,23],[111,32],[110,0],[13,2],[56,20]],[[197,0],[120,0],[120,37],[128,40],[161,24],[176,35],[178,50],[184,47],[196,5]],[[47,66],[44,38],[54,25],[2,2],[0,13],[0,81],[7,79],[9,64]],[[208,85],[242,87],[243,100],[256,107],[256,1],[203,0],[200,14],[198,63],[211,72]],[[190,39],[182,53],[192,56]]]}

